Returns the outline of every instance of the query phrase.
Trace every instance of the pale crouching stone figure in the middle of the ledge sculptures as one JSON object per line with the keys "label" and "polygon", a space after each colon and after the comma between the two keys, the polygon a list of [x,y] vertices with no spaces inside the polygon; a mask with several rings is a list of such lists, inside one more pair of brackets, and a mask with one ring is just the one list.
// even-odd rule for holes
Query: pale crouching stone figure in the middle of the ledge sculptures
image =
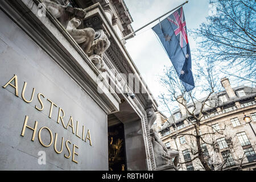
{"label": "pale crouching stone figure in the middle of the ledge sculptures", "polygon": [[75,39],[78,44],[80,44],[84,52],[89,54],[90,47],[92,46],[96,34],[93,28],[77,29],[81,23],[82,22],[80,19],[71,19],[68,23],[67,31],[72,38]]}

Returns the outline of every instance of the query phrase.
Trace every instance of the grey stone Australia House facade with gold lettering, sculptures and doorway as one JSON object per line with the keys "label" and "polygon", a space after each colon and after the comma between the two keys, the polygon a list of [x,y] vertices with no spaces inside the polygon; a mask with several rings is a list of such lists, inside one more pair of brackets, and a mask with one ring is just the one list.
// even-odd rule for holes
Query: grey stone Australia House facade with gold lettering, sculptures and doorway
{"label": "grey stone Australia House facade with gold lettering, sculptures and doorway", "polygon": [[131,22],[123,0],[0,2],[0,169],[156,169]]}

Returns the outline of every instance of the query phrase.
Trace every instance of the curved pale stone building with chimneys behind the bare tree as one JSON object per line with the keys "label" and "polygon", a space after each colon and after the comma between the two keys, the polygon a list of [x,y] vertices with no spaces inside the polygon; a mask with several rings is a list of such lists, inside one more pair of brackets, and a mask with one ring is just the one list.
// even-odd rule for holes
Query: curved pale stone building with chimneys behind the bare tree
{"label": "curved pale stone building with chimneys behind the bare tree", "polygon": [[[228,78],[222,78],[221,84],[225,90],[213,94],[205,102],[202,112],[204,116],[201,120],[203,125],[200,126],[200,135],[205,142],[201,143],[205,159],[212,169],[216,170],[238,168],[255,170],[256,88],[249,86],[232,88]],[[205,99],[202,98],[195,104],[187,104],[187,109],[194,110],[194,113],[198,114]],[[245,115],[250,117],[247,118],[250,123],[245,122]],[[199,159],[191,161],[195,155],[193,152],[197,151],[195,138],[185,134],[195,134],[195,127],[185,107],[180,105],[180,109],[175,110],[168,121],[164,123],[159,133],[167,148],[179,151],[181,163],[179,170],[202,170]],[[208,141],[215,144],[212,145]]]}

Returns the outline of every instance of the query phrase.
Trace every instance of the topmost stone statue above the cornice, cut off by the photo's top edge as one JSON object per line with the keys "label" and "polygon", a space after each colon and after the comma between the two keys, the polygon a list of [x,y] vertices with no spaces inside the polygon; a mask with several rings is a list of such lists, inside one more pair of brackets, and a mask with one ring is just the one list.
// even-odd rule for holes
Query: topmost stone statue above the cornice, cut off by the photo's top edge
{"label": "topmost stone statue above the cornice, cut off by the photo's top edge", "polygon": [[[57,18],[64,28],[67,28],[69,20],[73,18],[84,19],[86,11],[74,8],[71,6],[69,1],[67,3],[61,3],[62,1],[51,1],[51,0],[42,0],[46,5],[46,9],[51,13],[55,18]],[[64,5],[63,5],[64,4]]]}

